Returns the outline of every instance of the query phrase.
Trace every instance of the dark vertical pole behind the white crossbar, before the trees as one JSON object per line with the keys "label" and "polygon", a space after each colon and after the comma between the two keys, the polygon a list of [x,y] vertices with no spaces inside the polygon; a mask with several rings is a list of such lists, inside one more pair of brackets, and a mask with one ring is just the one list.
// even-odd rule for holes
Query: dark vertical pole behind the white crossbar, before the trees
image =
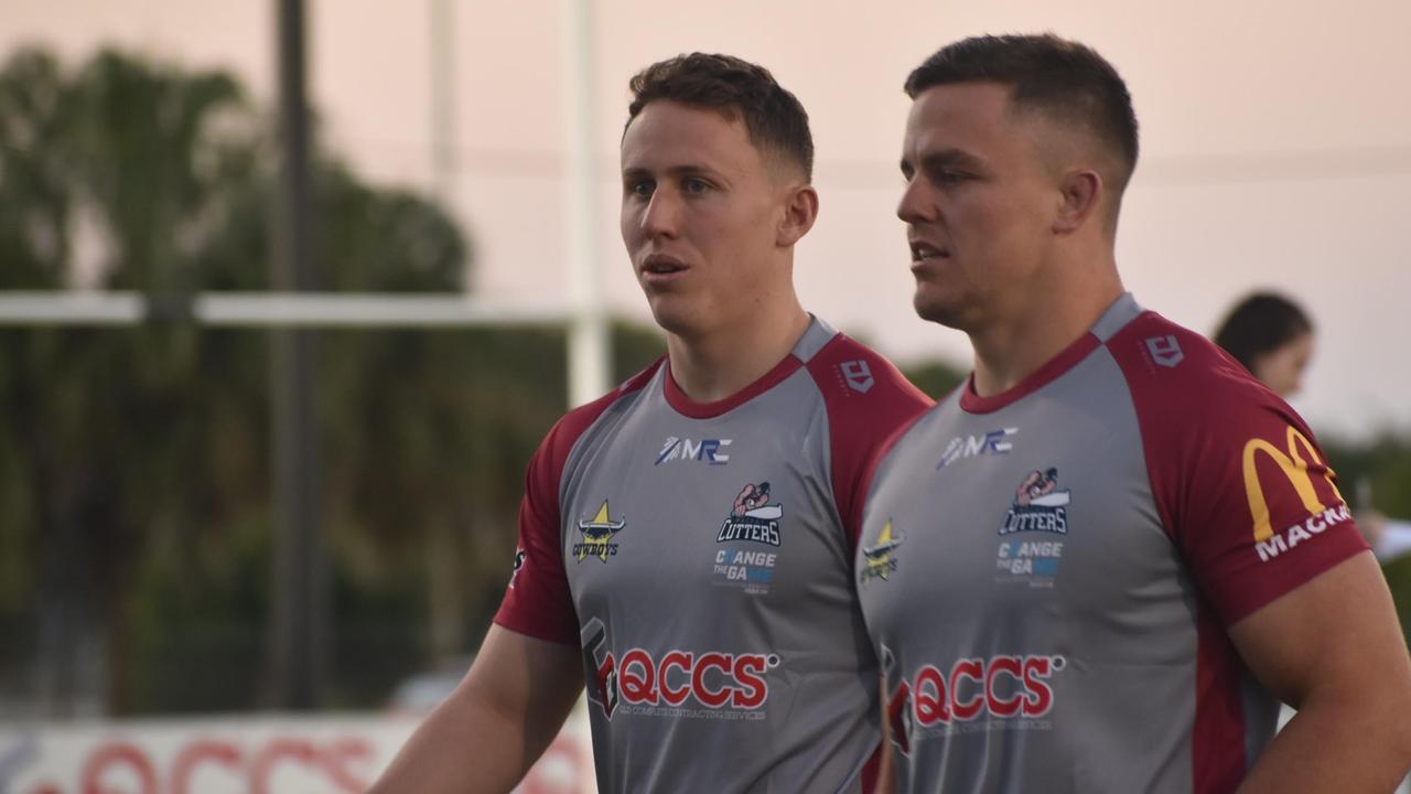
{"label": "dark vertical pole behind the white crossbar, before the trees", "polygon": [[[274,287],[310,291],[313,273],[313,191],[309,120],[305,102],[305,14],[302,0],[278,1],[279,184],[272,202]],[[323,581],[317,548],[317,434],[313,372],[316,336],[308,329],[275,329],[274,469],[275,582],[270,705],[310,709],[319,702]]]}

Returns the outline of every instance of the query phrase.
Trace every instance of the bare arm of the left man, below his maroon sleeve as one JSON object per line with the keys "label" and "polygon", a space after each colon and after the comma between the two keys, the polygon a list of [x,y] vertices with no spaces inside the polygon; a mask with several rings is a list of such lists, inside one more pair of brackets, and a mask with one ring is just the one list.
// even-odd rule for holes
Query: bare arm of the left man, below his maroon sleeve
{"label": "bare arm of the left man, below his maroon sleeve", "polygon": [[577,647],[491,626],[470,672],[370,794],[509,791],[553,742],[581,689]]}

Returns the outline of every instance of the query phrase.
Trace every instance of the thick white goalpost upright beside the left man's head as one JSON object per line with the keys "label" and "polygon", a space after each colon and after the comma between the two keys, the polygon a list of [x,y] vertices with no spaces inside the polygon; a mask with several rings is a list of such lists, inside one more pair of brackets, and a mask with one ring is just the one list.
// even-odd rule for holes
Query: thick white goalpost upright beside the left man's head
{"label": "thick white goalpost upright beside the left man's head", "polygon": [[597,116],[594,113],[593,0],[562,0],[563,97],[569,158],[569,404],[581,405],[608,389],[611,359],[597,235]]}

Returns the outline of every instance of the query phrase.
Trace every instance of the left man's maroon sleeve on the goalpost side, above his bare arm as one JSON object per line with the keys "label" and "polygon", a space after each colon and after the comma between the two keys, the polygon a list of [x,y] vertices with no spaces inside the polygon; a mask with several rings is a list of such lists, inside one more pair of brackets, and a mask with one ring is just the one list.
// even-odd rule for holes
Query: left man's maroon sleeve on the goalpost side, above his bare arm
{"label": "left man's maroon sleeve on the goalpost side, above his bare arm", "polygon": [[519,548],[495,623],[553,643],[579,644],[579,619],[563,569],[559,486],[563,468],[579,438],[612,403],[645,386],[660,360],[618,390],[576,408],[553,425],[529,459],[525,496],[519,503]]}

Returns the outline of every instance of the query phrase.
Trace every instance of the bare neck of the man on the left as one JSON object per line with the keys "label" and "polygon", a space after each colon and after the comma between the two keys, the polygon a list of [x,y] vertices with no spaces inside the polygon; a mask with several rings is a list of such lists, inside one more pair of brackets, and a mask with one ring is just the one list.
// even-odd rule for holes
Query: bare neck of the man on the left
{"label": "bare neck of the man on the left", "polygon": [[724,324],[697,336],[667,333],[670,373],[697,403],[715,403],[738,393],[775,369],[809,331],[809,312],[797,298],[755,322]]}

